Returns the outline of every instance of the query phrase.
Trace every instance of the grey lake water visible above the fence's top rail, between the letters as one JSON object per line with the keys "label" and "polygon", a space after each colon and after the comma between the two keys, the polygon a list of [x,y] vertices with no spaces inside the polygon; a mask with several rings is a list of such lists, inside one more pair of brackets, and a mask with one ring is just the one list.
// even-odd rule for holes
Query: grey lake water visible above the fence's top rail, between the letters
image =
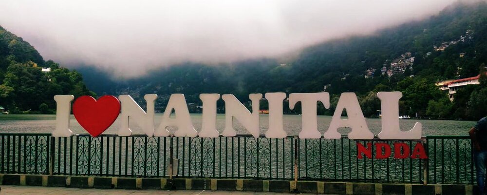
{"label": "grey lake water visible above the fence's top rail, between the letters", "polygon": [[[160,122],[162,114],[156,114],[154,123],[156,128]],[[201,130],[201,114],[191,114],[193,125],[197,131]],[[236,121],[236,120],[235,120]],[[318,130],[324,133],[330,124],[331,116],[318,116]],[[264,134],[268,128],[268,115],[260,115],[261,134]],[[367,118],[369,129],[377,135],[381,130],[380,118]],[[467,136],[468,130],[475,124],[475,121],[457,121],[457,120],[417,120],[417,119],[399,119],[401,130],[410,130],[415,122],[421,122],[423,125],[423,136]],[[104,132],[104,134],[116,134],[119,127],[120,118]],[[284,130],[289,135],[297,135],[301,129],[300,115],[284,115]],[[51,133],[56,127],[55,115],[0,115],[0,132],[1,133]],[[225,114],[217,115],[217,129],[221,132],[225,128]],[[248,134],[244,127],[238,121],[234,123],[237,134]],[[131,122],[133,134],[143,134],[136,122]],[[75,117],[71,116],[71,130],[76,134],[86,134],[87,132],[79,125]],[[172,130],[174,131],[174,130]],[[346,134],[350,129],[343,128],[339,130]]]}

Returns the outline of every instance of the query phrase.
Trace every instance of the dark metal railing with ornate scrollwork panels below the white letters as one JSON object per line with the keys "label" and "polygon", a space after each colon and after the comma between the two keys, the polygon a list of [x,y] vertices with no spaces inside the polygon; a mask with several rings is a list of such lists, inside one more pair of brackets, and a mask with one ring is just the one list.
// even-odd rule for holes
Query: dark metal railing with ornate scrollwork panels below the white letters
{"label": "dark metal railing with ornate scrollwork panels below the white letters", "polygon": [[[429,159],[357,158],[356,140],[237,137],[118,137],[0,134],[3,174],[178,177],[471,184],[468,137],[427,137]],[[366,141],[362,142],[365,145]],[[384,141],[390,145],[397,140]],[[417,141],[404,141],[411,147]],[[373,150],[374,151],[374,150]],[[375,153],[375,151],[374,151]],[[295,173],[295,166],[297,173]],[[297,174],[297,175],[296,175]]]}

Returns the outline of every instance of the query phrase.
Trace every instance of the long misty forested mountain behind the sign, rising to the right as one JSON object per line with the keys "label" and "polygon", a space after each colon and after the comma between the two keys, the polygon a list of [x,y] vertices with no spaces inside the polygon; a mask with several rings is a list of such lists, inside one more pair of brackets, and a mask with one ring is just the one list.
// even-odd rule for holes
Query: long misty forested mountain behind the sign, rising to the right
{"label": "long misty forested mountain behind the sign, rising to the right", "polygon": [[[141,105],[145,105],[144,94],[158,94],[158,111],[164,111],[173,93],[184,93],[190,110],[200,112],[201,93],[231,93],[248,105],[250,93],[326,91],[331,95],[331,109],[318,106],[318,114],[332,115],[340,93],[355,92],[366,117],[377,116],[380,109],[376,92],[401,91],[400,115],[478,119],[487,114],[485,77],[480,85],[455,94],[453,102],[435,83],[477,76],[485,72],[486,61],[487,4],[457,2],[426,20],[308,47],[293,60],[188,62],[153,70],[144,78],[119,81],[110,88],[95,84],[106,83],[96,79],[88,84],[99,93],[131,94]],[[86,69],[81,72],[90,75]],[[218,105],[218,112],[224,112],[224,102],[219,100]],[[286,107],[285,113],[300,112],[300,107]]]}

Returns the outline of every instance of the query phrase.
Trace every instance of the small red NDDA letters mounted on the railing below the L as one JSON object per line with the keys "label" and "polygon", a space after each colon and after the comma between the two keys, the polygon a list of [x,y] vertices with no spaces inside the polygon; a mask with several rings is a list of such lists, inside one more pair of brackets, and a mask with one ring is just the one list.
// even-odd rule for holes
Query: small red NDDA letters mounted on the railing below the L
{"label": "small red NDDA letters mounted on the railing below the L", "polygon": [[[362,145],[361,143],[357,142],[357,158],[362,159],[363,156],[367,156],[367,158],[372,158],[372,143],[368,142],[367,147]],[[428,158],[426,156],[426,151],[422,143],[416,143],[414,149],[411,149],[408,144],[403,142],[395,142],[394,144],[394,158],[420,158],[425,159]],[[377,142],[374,143],[375,148],[375,159],[384,159],[389,158],[391,156],[391,146],[388,143],[384,142]],[[411,155],[410,155],[411,154]]]}

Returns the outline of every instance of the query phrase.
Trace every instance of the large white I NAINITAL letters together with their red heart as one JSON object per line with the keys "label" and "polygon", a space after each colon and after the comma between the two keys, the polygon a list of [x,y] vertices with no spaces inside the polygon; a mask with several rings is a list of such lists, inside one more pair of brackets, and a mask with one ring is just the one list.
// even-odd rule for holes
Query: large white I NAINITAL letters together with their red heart
{"label": "large white I NAINITAL letters together with their red heart", "polygon": [[[399,99],[401,92],[379,92],[377,97],[381,101],[382,109],[382,130],[378,134],[379,139],[420,139],[421,123],[416,122],[409,131],[401,131],[399,128]],[[170,136],[167,127],[175,126],[177,131],[173,136],[176,137],[219,137],[220,133],[216,128],[216,102],[220,99],[220,94],[200,94],[203,102],[202,129],[197,132],[192,124],[186,100],[183,94],[172,94],[169,98],[166,111],[161,118],[161,122],[154,126],[154,104],[157,99],[155,94],[147,94],[144,99],[147,101],[147,110],[144,111],[129,95],[121,95],[117,98],[104,96],[97,100],[91,97],[77,98],[73,105],[73,112],[78,122],[86,120],[81,124],[94,137],[105,131],[120,114],[121,124],[118,129],[119,136],[130,136],[132,131],[129,127],[129,119],[135,121],[149,137],[168,137]],[[252,101],[252,112],[231,94],[222,95],[225,101],[225,129],[222,132],[224,137],[236,136],[233,128],[233,118],[237,119],[245,129],[254,137],[259,137],[259,101],[262,94],[250,94]],[[283,129],[282,103],[286,98],[285,93],[266,93],[265,99],[269,102],[269,129],[265,133],[268,138],[286,137],[287,133]],[[69,116],[71,114],[71,102],[74,100],[72,95],[57,95],[54,97],[57,103],[56,110],[56,129],[54,137],[69,137],[73,133],[69,128]],[[317,102],[323,103],[325,108],[330,107],[330,95],[326,92],[321,93],[294,93],[289,95],[289,108],[294,109],[297,102],[301,102],[302,129],[299,133],[300,138],[320,138],[323,136],[328,139],[339,139],[341,134],[338,128],[350,127],[352,131],[348,133],[350,139],[373,139],[374,134],[369,130],[365,122],[362,110],[358,103],[355,93],[342,93],[337,103],[337,108],[332,117],[328,130],[321,135],[318,131]],[[91,103],[90,103],[91,102]],[[117,103],[118,102],[118,103]],[[117,108],[118,106],[118,108]],[[98,108],[99,110],[89,113],[82,112],[83,109]],[[76,109],[76,110],[75,110]],[[117,110],[118,109],[118,110]],[[348,119],[341,119],[341,113],[346,109]],[[120,113],[121,110],[121,113]],[[174,110],[176,117],[171,118],[171,111]],[[111,111],[111,112],[103,112]],[[102,113],[94,116],[93,113]],[[78,113],[78,114],[77,114]],[[111,117],[112,121],[104,121],[105,117]],[[89,128],[97,128],[94,134]]]}

